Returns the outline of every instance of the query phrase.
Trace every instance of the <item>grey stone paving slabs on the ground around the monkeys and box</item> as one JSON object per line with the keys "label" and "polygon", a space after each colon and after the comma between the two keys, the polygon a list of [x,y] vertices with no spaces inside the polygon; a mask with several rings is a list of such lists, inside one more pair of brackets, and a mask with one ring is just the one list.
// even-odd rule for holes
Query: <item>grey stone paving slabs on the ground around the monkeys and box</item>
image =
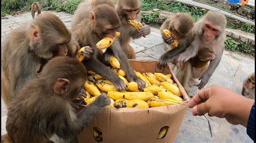
{"label": "grey stone paving slabs on the ground around the monkeys and box", "polygon": [[[55,14],[70,28],[72,15],[63,12]],[[16,17],[8,17],[9,19],[2,19],[1,21],[1,39],[17,26],[32,19],[30,13],[24,13]],[[147,35],[146,38],[133,40],[131,46],[134,47],[136,51],[136,59],[140,60],[157,60],[160,55],[164,53],[163,41],[159,30],[156,28],[151,28],[151,34]],[[242,81],[248,74],[254,71],[254,64],[254,59],[225,51],[218,68],[215,70],[206,87],[212,84],[219,84],[240,94]],[[197,87],[191,87],[188,89],[188,94],[193,96],[197,91]],[[1,134],[4,134],[6,132],[6,108],[3,102],[1,102],[1,106]],[[187,110],[175,142],[253,142],[247,136],[245,127],[241,125],[231,125],[227,123],[225,119],[215,117],[212,117],[213,120],[210,119],[213,133],[213,137],[211,138],[207,120],[204,117],[193,117],[191,111],[190,109]]]}

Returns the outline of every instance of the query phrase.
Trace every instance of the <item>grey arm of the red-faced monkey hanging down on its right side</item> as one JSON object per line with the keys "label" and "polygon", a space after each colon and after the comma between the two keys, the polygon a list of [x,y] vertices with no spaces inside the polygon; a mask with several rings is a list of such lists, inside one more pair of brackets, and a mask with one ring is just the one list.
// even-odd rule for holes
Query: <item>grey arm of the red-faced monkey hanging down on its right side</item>
{"label": "grey arm of the red-faced monkey hanging down on its right side", "polygon": [[[217,48],[217,47],[215,47],[215,48]],[[207,84],[207,82],[210,79],[210,77],[212,76],[214,70],[218,67],[218,65],[220,63],[223,51],[224,51],[224,47],[221,47],[221,49],[219,49],[219,51],[215,52],[216,58],[214,60],[210,61],[210,65],[208,66],[208,68],[206,69],[204,74],[199,78],[199,80],[201,80],[201,82],[198,85],[198,89],[204,88],[205,85]]]}

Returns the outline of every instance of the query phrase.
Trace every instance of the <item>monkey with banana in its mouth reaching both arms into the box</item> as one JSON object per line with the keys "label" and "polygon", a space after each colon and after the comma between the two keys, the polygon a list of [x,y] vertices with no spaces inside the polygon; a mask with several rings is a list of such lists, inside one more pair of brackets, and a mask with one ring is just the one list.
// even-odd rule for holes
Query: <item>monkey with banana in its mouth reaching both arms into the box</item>
{"label": "monkey with banana in its mouth reaching both arms into the box", "polygon": [[77,35],[80,47],[89,45],[95,51],[95,54],[90,59],[83,61],[88,70],[95,71],[97,74],[110,80],[119,91],[126,90],[127,87],[124,81],[103,64],[103,62],[107,63],[108,55],[113,55],[119,60],[129,81],[137,82],[139,89],[143,89],[145,82],[135,75],[125,53],[120,48],[117,37],[104,54],[96,47],[97,42],[104,37],[115,37],[116,29],[119,26],[119,17],[112,6],[100,4],[91,11],[89,19],[84,19],[72,31]]}

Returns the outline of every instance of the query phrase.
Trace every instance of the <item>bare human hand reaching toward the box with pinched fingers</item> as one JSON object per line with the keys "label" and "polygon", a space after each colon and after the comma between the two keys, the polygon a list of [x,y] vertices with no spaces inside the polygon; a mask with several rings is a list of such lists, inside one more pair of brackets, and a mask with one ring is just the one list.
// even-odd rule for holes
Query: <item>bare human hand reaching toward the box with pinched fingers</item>
{"label": "bare human hand reaching toward the box with pinched fingers", "polygon": [[246,127],[254,102],[253,99],[248,99],[219,85],[212,85],[200,90],[188,103],[188,108],[193,108],[194,116],[208,113],[208,116],[225,118],[228,123]]}

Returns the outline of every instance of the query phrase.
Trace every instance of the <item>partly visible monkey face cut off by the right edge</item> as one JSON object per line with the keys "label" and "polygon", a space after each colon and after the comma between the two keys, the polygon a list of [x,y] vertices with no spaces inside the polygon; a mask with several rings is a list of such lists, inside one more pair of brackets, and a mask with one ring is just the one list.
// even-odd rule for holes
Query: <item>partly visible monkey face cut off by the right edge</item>
{"label": "partly visible monkey face cut off by the right edge", "polygon": [[250,74],[242,84],[242,95],[255,99],[255,73]]}

